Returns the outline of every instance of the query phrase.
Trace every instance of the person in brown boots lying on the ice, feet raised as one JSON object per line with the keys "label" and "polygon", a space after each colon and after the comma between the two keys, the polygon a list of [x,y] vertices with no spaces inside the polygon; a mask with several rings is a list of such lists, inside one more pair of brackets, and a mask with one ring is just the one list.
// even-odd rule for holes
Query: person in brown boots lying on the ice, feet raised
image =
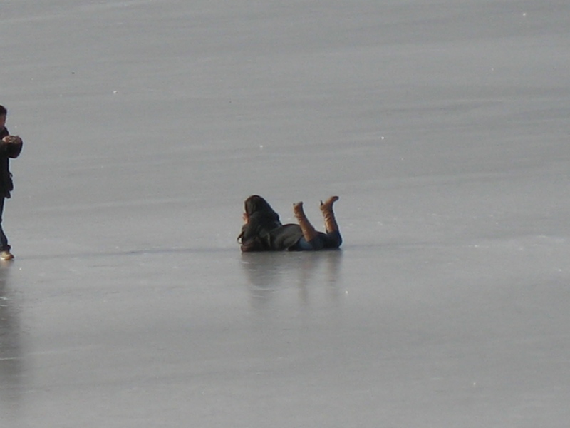
{"label": "person in brown boots lying on the ice, feet raised", "polygon": [[314,251],[338,248],[343,242],[334,218],[333,203],[338,196],[321,200],[321,212],[326,233],[317,232],[306,218],[303,203],[293,204],[293,213],[299,222],[282,225],[271,205],[261,196],[249,196],[244,202],[244,225],[237,241],[242,251]]}

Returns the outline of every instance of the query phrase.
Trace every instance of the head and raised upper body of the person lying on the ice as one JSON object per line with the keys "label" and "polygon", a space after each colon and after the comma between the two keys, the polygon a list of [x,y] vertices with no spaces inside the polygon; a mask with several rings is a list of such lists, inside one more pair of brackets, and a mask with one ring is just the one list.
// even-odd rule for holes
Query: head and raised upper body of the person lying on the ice
{"label": "head and raised upper body of the person lying on the ice", "polygon": [[249,196],[244,202],[244,210],[248,222],[242,227],[242,233],[239,234],[237,240],[242,243],[242,250],[249,247],[258,251],[262,250],[269,245],[269,232],[281,226],[279,214],[259,195]]}

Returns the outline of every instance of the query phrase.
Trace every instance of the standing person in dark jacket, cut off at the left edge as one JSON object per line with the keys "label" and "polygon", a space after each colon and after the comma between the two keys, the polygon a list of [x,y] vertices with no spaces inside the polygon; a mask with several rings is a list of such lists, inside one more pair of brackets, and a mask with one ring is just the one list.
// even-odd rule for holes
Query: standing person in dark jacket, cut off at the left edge
{"label": "standing person in dark jacket, cut off at the left edge", "polygon": [[2,213],[4,201],[10,198],[10,192],[14,190],[12,175],[10,173],[9,158],[17,158],[22,151],[22,139],[19,136],[11,136],[6,128],[6,116],[8,110],[0,106],[0,260],[11,260],[14,255],[10,253],[8,238],[2,230]]}

